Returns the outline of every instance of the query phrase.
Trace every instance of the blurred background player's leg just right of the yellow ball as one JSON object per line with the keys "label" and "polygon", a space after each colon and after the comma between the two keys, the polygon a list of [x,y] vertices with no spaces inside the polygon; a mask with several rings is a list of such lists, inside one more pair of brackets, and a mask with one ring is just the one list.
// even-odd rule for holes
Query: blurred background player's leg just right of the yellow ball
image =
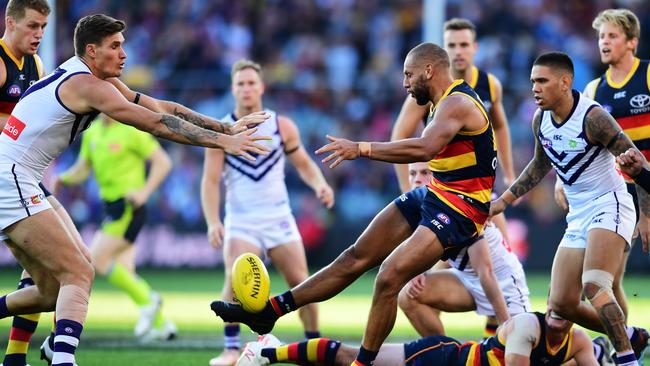
{"label": "blurred background player's leg just right of the yellow ball", "polygon": [[[309,277],[305,248],[301,241],[292,241],[270,248],[268,255],[290,288]],[[298,313],[305,330],[305,338],[319,338],[318,306],[315,303],[307,304],[301,307]]]}

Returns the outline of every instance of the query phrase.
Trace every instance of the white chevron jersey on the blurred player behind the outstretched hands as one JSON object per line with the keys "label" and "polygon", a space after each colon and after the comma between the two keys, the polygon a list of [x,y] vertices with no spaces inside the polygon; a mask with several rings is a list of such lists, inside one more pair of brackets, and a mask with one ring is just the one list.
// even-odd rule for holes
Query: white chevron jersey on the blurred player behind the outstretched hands
{"label": "white chevron jersey on the blurred player behind the outstretched hands", "polygon": [[[271,218],[291,213],[289,194],[284,182],[284,142],[278,126],[278,114],[267,110],[271,118],[257,126],[255,135],[271,136],[260,141],[271,148],[267,155],[249,161],[225,154],[224,184],[226,186],[226,220],[245,215],[253,218]],[[234,123],[234,113],[222,121]]]}

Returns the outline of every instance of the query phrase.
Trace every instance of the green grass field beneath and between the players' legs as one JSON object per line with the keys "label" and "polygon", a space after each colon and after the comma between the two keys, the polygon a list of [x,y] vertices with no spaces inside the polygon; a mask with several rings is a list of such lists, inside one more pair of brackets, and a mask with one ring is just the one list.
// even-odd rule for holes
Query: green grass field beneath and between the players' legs
{"label": "green grass field beneath and between the players' legs", "polygon": [[[0,271],[0,291],[11,291],[19,271]],[[285,290],[282,280],[271,274],[272,293]],[[207,365],[207,361],[221,350],[222,323],[209,308],[219,296],[223,277],[221,271],[165,270],[144,271],[152,287],[165,301],[165,313],[179,327],[179,337],[171,342],[143,344],[132,335],[138,311],[126,295],[98,278],[90,301],[88,321],[82,336],[77,361],[81,366],[95,365]],[[323,335],[358,344],[366,323],[374,273],[359,279],[339,296],[321,304],[320,320]],[[545,309],[545,295],[549,277],[530,275],[528,285],[535,310]],[[630,323],[650,327],[650,286],[648,279],[628,276],[625,283],[630,303]],[[444,314],[447,334],[459,339],[480,338],[484,320],[473,314]],[[11,321],[0,321],[0,347],[4,350]],[[38,360],[38,346],[49,333],[51,317],[44,315],[30,347],[29,362],[43,365]],[[302,327],[296,313],[278,322],[274,329],[283,341],[302,337]],[[242,326],[243,341],[255,335]],[[418,338],[406,318],[398,315],[390,341],[401,342]],[[646,358],[650,362],[650,358]]]}

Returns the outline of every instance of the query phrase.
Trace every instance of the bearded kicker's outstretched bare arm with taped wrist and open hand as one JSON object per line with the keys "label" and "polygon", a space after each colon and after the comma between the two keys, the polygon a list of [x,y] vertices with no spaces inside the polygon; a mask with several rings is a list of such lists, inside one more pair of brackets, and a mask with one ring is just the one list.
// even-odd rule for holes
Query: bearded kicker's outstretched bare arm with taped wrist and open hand
{"label": "bearded kicker's outstretched bare arm with taped wrist and open hand", "polygon": [[413,163],[433,159],[447,144],[463,131],[477,131],[485,126],[485,117],[474,102],[456,94],[440,102],[433,121],[424,129],[421,137],[393,142],[354,142],[333,136],[316,154],[331,152],[322,161],[335,168],[344,160],[360,156],[389,163]]}

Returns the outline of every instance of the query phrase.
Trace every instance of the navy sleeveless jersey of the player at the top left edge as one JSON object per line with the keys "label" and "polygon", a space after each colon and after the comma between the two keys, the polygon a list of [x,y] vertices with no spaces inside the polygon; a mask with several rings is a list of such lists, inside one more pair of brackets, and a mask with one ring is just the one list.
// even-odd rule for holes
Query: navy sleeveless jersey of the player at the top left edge
{"label": "navy sleeveless jersey of the player at the top left edge", "polygon": [[0,40],[0,60],[7,72],[5,83],[0,86],[0,117],[8,117],[27,88],[40,79],[41,63],[37,55],[16,59],[3,40]]}

